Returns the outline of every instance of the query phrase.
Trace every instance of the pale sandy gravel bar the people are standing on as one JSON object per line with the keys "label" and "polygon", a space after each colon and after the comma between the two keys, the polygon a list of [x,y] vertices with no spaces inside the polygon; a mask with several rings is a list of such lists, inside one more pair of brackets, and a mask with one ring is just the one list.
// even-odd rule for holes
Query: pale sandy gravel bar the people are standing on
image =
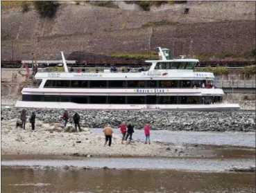
{"label": "pale sandy gravel bar the people are standing on", "polygon": [[[35,131],[30,124],[26,129],[15,129],[16,120],[1,122],[1,154],[44,154],[79,156],[199,156],[196,147],[164,143],[144,144],[139,141],[121,144],[121,134],[114,134],[112,146],[105,136],[92,134],[82,127],[82,132],[65,132],[60,123],[53,125],[37,121]],[[80,141],[80,143],[78,143]],[[167,149],[168,148],[168,149]]]}

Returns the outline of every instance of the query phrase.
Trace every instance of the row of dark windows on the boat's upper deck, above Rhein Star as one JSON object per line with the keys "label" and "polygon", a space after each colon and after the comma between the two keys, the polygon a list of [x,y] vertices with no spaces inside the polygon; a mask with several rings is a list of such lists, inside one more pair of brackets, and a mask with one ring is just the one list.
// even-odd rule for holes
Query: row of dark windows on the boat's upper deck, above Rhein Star
{"label": "row of dark windows on the boat's upper deck, above Rhein Star", "polygon": [[207,82],[205,80],[47,80],[44,88],[189,88]]}

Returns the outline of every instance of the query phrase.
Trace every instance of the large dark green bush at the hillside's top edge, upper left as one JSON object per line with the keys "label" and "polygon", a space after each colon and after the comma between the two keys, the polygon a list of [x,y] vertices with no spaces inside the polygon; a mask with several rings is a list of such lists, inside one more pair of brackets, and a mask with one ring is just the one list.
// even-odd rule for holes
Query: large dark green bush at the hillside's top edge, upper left
{"label": "large dark green bush at the hillside's top edge, upper left", "polygon": [[53,17],[56,14],[58,5],[54,1],[34,1],[35,9],[42,17]]}

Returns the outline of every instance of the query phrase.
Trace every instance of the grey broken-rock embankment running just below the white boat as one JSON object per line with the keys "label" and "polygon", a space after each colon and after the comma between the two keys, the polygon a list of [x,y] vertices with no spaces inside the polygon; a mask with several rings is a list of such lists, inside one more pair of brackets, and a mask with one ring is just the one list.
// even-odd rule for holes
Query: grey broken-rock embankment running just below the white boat
{"label": "grey broken-rock embankment running just below the white boat", "polygon": [[[22,109],[2,109],[1,120],[19,119]],[[60,109],[28,109],[27,115],[36,113],[36,120],[62,123]],[[173,131],[255,131],[255,113],[204,111],[77,111],[80,124],[89,128],[103,128],[110,124],[118,128],[121,122],[131,122],[142,129],[149,122],[151,129]],[[75,111],[69,111],[73,116]]]}

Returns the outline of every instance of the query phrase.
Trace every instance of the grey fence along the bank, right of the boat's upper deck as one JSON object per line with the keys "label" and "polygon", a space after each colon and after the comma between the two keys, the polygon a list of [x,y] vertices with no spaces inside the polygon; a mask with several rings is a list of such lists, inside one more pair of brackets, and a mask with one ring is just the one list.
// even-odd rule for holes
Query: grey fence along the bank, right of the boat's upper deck
{"label": "grey fence along the bank, right of the boat's upper deck", "polygon": [[255,88],[255,80],[219,80],[215,85],[219,88]]}

